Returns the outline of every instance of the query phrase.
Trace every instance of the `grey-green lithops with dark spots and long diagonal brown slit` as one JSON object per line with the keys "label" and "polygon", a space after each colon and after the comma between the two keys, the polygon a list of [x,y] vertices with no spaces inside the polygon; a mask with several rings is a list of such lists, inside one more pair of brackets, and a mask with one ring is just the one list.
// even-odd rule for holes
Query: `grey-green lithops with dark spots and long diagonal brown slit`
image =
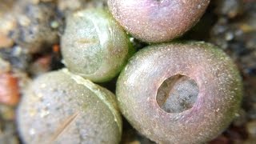
{"label": "grey-green lithops with dark spots and long diagonal brown slit", "polygon": [[114,94],[68,70],[43,74],[23,94],[18,131],[25,143],[118,143]]}

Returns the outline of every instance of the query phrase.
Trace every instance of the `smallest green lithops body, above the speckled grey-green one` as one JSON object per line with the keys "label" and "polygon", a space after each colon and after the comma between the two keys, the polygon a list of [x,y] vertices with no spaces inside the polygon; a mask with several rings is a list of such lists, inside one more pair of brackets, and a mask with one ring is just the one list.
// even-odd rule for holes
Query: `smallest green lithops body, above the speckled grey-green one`
{"label": "smallest green lithops body, above the speckled grey-green one", "polygon": [[102,9],[70,14],[61,46],[67,68],[93,82],[114,78],[133,51],[126,32]]}

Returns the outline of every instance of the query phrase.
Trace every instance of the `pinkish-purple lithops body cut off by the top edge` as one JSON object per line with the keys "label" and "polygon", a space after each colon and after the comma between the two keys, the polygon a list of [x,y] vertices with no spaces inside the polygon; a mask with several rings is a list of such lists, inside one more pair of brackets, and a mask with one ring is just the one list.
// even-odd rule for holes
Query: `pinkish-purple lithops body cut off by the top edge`
{"label": "pinkish-purple lithops body cut off by the top edge", "polygon": [[109,0],[114,18],[135,38],[166,42],[194,26],[210,0]]}

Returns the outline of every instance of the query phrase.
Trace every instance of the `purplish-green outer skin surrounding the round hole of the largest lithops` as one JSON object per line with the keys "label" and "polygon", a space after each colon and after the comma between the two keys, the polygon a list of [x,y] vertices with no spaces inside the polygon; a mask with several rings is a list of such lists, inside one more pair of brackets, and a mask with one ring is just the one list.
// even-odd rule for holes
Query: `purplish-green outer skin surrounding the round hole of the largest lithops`
{"label": "purplish-green outer skin surrounding the round hole of the largest lithops", "polygon": [[[194,79],[198,100],[180,113],[156,101],[159,86],[176,74]],[[117,82],[118,105],[132,126],[159,143],[200,143],[221,134],[238,111],[242,82],[229,57],[204,42],[148,46],[130,59]]]}

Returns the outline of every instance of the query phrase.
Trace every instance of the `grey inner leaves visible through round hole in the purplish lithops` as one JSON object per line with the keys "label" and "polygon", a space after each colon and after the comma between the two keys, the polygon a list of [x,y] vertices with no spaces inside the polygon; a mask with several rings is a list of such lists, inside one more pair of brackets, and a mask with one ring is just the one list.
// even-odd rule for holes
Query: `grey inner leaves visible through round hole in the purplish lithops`
{"label": "grey inner leaves visible through round hole in the purplish lithops", "polygon": [[190,109],[198,98],[198,86],[194,79],[185,75],[174,75],[162,82],[156,100],[167,113],[178,113]]}

